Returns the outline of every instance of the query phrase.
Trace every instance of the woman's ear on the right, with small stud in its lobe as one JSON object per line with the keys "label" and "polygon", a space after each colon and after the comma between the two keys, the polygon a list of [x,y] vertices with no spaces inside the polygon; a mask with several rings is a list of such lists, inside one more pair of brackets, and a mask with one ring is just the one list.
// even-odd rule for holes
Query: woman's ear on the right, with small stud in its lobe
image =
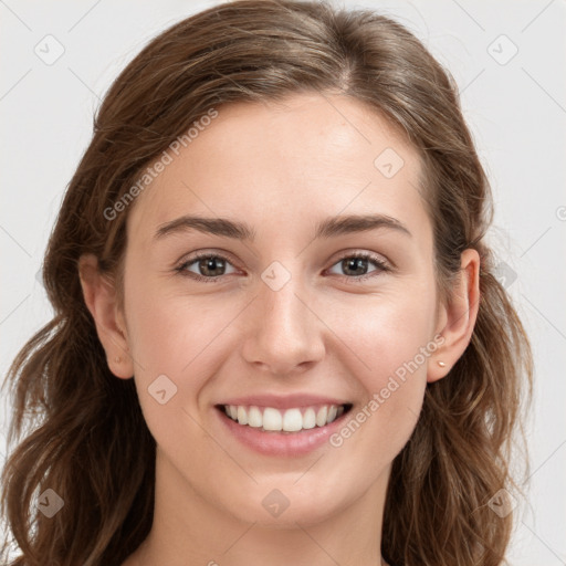
{"label": "woman's ear on the right, with small stud in its lobe", "polygon": [[[437,333],[444,338],[429,359],[427,381],[441,379],[462,356],[472,338],[480,307],[480,254],[472,249],[461,255],[460,276],[448,304],[440,307]],[[444,366],[439,366],[443,361]]]}

